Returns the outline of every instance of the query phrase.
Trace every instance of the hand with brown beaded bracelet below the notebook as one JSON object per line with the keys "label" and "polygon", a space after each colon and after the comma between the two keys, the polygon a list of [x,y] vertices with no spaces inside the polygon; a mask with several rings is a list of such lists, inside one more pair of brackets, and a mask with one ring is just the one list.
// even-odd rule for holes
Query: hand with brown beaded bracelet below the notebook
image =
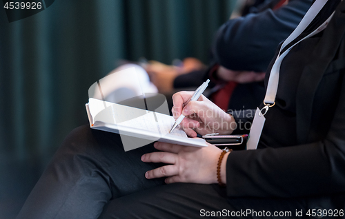
{"label": "hand with brown beaded bracelet below the notebook", "polygon": [[[207,143],[208,144],[208,143]],[[145,177],[167,177],[166,183],[217,183],[217,163],[221,149],[208,144],[208,147],[188,147],[156,142],[155,148],[162,152],[152,152],[141,156],[149,163],[167,163],[157,169],[147,171]],[[221,181],[226,183],[226,160],[221,162]]]}

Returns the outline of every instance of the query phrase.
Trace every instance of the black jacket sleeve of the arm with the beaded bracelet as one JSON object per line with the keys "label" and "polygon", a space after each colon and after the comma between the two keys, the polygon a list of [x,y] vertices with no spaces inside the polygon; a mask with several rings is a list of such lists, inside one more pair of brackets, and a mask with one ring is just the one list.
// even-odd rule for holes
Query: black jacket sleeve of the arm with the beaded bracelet
{"label": "black jacket sleeve of the arm with the beaded bracelet", "polygon": [[345,191],[345,77],[324,140],[293,147],[235,151],[228,156],[228,196],[298,197]]}

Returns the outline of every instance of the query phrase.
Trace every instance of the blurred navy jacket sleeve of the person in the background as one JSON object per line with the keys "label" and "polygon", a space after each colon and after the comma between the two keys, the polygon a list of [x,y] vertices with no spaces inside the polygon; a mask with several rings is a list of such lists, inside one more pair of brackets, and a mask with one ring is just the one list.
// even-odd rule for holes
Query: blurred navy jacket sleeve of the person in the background
{"label": "blurred navy jacket sleeve of the person in the background", "polygon": [[230,70],[265,72],[277,45],[293,32],[311,3],[292,0],[277,10],[230,19],[215,36],[215,60]]}

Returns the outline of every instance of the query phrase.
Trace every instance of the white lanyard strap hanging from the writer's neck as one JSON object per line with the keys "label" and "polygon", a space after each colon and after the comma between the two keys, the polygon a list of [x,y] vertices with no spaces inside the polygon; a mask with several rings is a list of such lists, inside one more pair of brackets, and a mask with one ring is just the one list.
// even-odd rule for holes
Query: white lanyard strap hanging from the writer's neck
{"label": "white lanyard strap hanging from the writer's neck", "polygon": [[313,32],[305,36],[303,39],[297,41],[297,43],[294,43],[293,45],[291,45],[290,48],[285,50],[282,54],[280,54],[280,52],[282,52],[282,50],[286,47],[286,45],[288,45],[288,43],[291,43],[294,39],[297,38],[297,36],[299,36],[299,34],[301,34],[308,27],[308,25],[311,23],[311,21],[313,21],[313,19],[315,19],[319,11],[322,10],[322,8],[324,7],[326,3],[327,3],[327,0],[315,1],[315,3],[313,3],[311,8],[308,10],[308,12],[306,12],[306,15],[304,16],[302,21],[299,23],[299,25],[297,25],[297,28],[290,34],[290,36],[288,36],[288,38],[284,41],[282,47],[280,48],[279,54],[277,58],[275,59],[275,63],[273,64],[273,67],[270,70],[270,78],[268,79],[266,96],[264,99],[264,104],[266,105],[265,107],[266,112],[268,110],[267,106],[275,105],[275,96],[277,95],[278,83],[279,83],[280,65],[282,65],[282,61],[284,57],[286,56],[286,54],[288,54],[288,52],[290,52],[290,50],[299,42],[303,41],[304,39],[307,39],[308,37],[314,36],[318,32],[321,32],[322,30],[324,30],[328,22],[333,17],[334,12],[333,14],[331,14],[330,17],[328,17],[328,19],[324,23],[322,23],[322,25],[319,26],[319,28],[317,28],[316,30],[314,30]]}

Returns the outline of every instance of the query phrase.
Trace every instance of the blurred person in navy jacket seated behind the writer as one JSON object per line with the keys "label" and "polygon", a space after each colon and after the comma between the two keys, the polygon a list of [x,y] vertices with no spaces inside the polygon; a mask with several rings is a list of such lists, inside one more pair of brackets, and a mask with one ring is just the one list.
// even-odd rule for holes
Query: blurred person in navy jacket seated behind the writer
{"label": "blurred person in navy jacket seated behind the writer", "polygon": [[[255,108],[264,98],[264,72],[277,45],[293,32],[311,6],[311,0],[257,0],[242,17],[221,25],[211,51],[210,67],[186,59],[182,67],[156,61],[146,71],[159,92],[167,94],[186,87],[198,87],[211,79],[210,99],[222,110]],[[185,66],[186,65],[186,66]]]}

